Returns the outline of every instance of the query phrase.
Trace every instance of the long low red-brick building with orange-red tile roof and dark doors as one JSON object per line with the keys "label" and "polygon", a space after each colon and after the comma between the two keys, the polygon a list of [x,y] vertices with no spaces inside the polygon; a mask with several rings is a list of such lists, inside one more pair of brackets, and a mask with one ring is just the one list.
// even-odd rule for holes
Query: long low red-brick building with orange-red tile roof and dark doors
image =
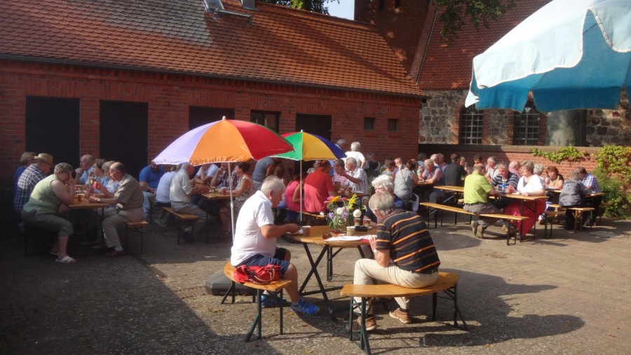
{"label": "long low red-brick building with orange-red tile roof and dark doors", "polygon": [[1,1],[0,181],[25,150],[137,173],[222,116],[416,155],[423,93],[374,26],[255,5]]}

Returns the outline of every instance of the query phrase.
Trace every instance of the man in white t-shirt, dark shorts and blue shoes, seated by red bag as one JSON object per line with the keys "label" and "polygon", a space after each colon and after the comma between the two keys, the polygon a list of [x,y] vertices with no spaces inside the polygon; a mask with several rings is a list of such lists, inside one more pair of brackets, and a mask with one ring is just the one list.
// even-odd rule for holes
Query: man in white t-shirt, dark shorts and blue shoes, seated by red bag
{"label": "man in white t-shirt, dark shorts and blue shoes, seated by red bag", "polygon": [[[267,264],[280,266],[280,278],[292,281],[287,286],[287,294],[292,300],[292,312],[313,315],[319,309],[299,296],[298,271],[290,262],[291,253],[285,248],[276,247],[276,238],[299,230],[294,223],[274,225],[272,208],[278,206],[284,191],[285,184],[276,176],[270,176],[264,180],[261,189],[243,203],[236,223],[230,263],[235,267]],[[275,299],[263,299],[262,304],[270,306],[273,304],[270,300]]]}

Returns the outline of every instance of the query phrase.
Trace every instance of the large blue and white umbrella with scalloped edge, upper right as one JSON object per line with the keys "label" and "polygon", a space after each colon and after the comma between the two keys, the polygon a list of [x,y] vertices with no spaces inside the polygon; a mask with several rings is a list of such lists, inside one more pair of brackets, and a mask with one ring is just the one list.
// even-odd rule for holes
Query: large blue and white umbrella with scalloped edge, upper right
{"label": "large blue and white umbrella with scalloped edge, upper right", "polygon": [[466,106],[616,109],[630,63],[631,0],[554,0],[473,58]]}

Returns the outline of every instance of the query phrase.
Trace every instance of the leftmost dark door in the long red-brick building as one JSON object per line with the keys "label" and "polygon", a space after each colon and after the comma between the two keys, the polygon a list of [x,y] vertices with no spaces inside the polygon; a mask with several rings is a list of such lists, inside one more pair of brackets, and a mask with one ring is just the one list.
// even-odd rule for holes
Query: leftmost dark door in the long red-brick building
{"label": "leftmost dark door in the long red-brick building", "polygon": [[[79,166],[79,99],[26,98],[26,150]],[[51,170],[52,171],[52,170]]]}

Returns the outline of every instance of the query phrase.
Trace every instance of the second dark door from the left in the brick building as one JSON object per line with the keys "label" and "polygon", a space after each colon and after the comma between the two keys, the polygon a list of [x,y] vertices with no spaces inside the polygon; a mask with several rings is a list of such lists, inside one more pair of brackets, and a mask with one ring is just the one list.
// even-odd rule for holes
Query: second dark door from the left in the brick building
{"label": "second dark door from the left in the brick building", "polygon": [[147,166],[147,102],[101,101],[101,154],[120,161],[136,179]]}

